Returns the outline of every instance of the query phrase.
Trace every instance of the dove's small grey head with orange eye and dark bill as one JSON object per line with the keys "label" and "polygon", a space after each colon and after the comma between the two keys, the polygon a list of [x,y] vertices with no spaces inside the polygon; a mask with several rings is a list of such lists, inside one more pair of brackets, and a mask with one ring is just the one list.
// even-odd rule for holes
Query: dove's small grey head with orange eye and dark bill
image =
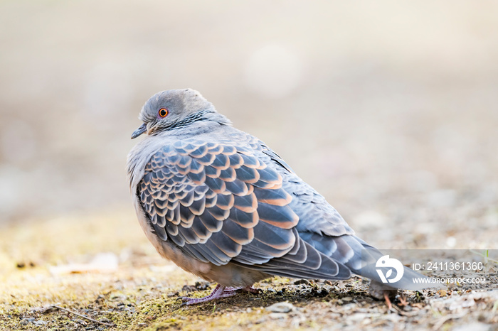
{"label": "dove's small grey head with orange eye and dark bill", "polygon": [[155,134],[177,129],[202,119],[206,113],[216,110],[211,102],[194,89],[169,89],[154,94],[145,102],[139,114],[144,122],[132,134],[132,139],[141,134]]}

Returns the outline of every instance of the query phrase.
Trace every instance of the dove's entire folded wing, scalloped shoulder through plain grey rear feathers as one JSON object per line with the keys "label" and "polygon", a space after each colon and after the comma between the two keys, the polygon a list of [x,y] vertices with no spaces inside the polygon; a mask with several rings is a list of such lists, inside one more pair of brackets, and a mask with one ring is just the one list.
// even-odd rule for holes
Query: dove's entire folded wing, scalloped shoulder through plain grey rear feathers
{"label": "dove's entire folded wing, scalloped shoulder through plain grey rear feathers", "polygon": [[152,155],[137,196],[154,232],[218,266],[349,278],[356,259],[344,254],[358,252],[330,236],[351,237],[351,228],[280,156],[245,137],[238,144],[176,141]]}

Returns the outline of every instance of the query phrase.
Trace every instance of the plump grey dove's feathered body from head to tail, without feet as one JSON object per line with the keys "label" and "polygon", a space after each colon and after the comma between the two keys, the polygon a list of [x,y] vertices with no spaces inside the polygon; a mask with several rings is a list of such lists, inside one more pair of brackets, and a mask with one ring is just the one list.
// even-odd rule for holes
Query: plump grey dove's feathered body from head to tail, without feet
{"label": "plump grey dove's feathered body from head to tail, without feet", "polygon": [[166,259],[233,287],[271,275],[334,280],[361,273],[361,249],[373,247],[277,153],[231,126],[201,94],[159,92],[139,119],[144,124],[132,137],[147,136],[129,153],[129,184],[142,229]]}

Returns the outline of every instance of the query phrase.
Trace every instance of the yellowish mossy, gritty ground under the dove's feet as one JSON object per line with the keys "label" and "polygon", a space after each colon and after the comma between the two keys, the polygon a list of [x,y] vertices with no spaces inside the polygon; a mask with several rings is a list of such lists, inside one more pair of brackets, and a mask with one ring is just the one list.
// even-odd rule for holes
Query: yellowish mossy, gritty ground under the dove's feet
{"label": "yellowish mossy, gritty ground under the dove's feet", "polygon": [[[368,283],[360,278],[334,283],[271,278],[256,284],[263,289],[258,295],[181,306],[179,296],[201,297],[213,284],[160,259],[134,215],[115,211],[10,224],[0,239],[1,330],[449,330],[498,322],[497,291],[407,291],[409,305],[401,307],[396,299],[388,310],[368,295]],[[117,270],[51,269],[85,264],[102,252],[117,257]],[[282,301],[292,304],[289,312],[267,310]],[[51,305],[113,326],[47,309]]]}

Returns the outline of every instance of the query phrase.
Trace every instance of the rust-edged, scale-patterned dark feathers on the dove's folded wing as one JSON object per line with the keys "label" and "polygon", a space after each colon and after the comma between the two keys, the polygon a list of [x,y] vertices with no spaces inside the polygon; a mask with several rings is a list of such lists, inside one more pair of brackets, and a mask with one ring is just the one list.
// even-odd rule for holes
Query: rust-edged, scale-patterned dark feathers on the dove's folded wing
{"label": "rust-edged, scale-patterned dark feathers on the dove's folded wing", "polygon": [[226,264],[255,245],[268,247],[258,250],[261,259],[273,259],[296,241],[290,229],[299,218],[288,207],[282,176],[245,146],[192,140],[163,146],[137,190],[159,238],[194,259]]}

